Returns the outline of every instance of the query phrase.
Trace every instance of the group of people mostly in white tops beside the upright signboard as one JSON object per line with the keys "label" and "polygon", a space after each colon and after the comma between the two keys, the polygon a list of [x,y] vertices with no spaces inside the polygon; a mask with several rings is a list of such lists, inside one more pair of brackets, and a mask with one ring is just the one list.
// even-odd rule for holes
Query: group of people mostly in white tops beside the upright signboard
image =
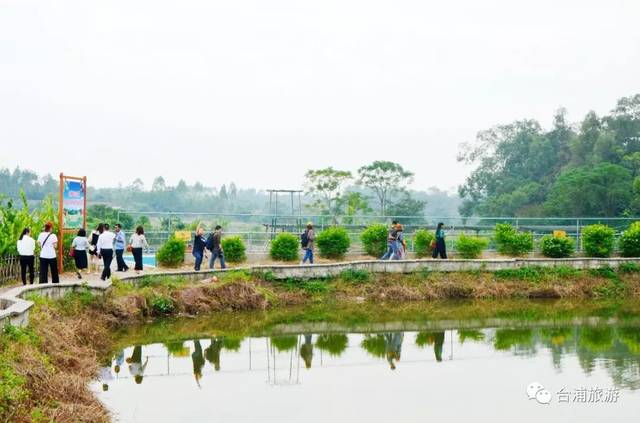
{"label": "group of people mostly in white tops beside the upright signboard", "polygon": [[[33,284],[34,282],[36,245],[40,247],[39,282],[47,283],[49,281],[49,271],[51,271],[51,282],[60,282],[57,260],[58,237],[53,233],[53,223],[47,222],[37,240],[31,237],[30,228],[24,228],[18,239],[17,249],[20,256],[22,284],[27,284],[27,273],[29,274],[29,283]],[[114,255],[118,271],[126,272],[129,270],[129,266],[124,260],[125,249],[133,255],[136,272],[141,272],[143,270],[142,252],[145,248],[149,248],[149,244],[144,236],[144,228],[142,226],[136,228],[135,233],[131,235],[127,243],[122,225],[116,223],[112,232],[108,223],[100,223],[91,232],[91,238],[87,237],[87,232],[84,229],[78,230],[71,242],[69,254],[73,257],[78,279],[82,279],[83,272],[89,273],[90,264],[94,266],[94,269],[97,269],[98,263],[102,261],[103,270],[100,278],[106,280],[111,277],[111,262]]]}

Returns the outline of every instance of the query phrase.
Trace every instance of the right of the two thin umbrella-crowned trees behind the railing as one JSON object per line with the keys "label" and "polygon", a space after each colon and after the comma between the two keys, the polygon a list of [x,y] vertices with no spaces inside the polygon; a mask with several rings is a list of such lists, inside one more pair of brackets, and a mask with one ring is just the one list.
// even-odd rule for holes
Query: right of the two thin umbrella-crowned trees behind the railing
{"label": "right of the two thin umbrella-crowned trees behind the railing", "polygon": [[412,180],[413,173],[389,161],[375,161],[358,169],[358,184],[374,192],[383,216],[386,215],[389,197],[404,191]]}

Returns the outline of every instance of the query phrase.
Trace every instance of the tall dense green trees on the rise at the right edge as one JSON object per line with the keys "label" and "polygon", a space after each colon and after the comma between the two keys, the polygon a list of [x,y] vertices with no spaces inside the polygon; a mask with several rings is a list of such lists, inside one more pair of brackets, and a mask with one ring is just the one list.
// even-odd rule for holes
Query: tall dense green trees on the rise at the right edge
{"label": "tall dense green trees on the rise at the right edge", "polygon": [[577,124],[561,109],[548,130],[535,120],[495,126],[459,160],[475,165],[459,188],[463,216],[637,216],[640,94]]}

